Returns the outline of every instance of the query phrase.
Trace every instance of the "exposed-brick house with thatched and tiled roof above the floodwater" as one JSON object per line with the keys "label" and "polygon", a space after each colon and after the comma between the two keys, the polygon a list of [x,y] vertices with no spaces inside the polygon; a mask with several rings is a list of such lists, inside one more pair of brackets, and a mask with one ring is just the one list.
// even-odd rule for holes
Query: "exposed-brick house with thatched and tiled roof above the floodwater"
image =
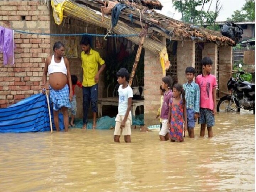
{"label": "exposed-brick house with thatched and tiled roof above the floodwater", "polygon": [[[86,4],[86,6],[81,4]],[[127,1],[126,1],[127,3]],[[158,1],[142,1],[142,5],[137,6],[141,11],[145,8],[161,9]],[[109,26],[110,16],[105,17],[101,22],[101,15],[97,14],[102,4],[97,1],[65,1],[64,15],[66,19],[61,25],[56,25],[52,16],[52,7],[49,1],[0,1],[0,26],[15,30],[22,30],[35,33],[95,33],[95,28],[107,28]],[[73,7],[68,9],[68,7]],[[81,11],[82,10],[82,11]],[[95,21],[92,22],[86,14],[93,14]],[[96,14],[95,14],[96,12]],[[136,12],[136,11],[135,11]],[[79,15],[79,13],[82,13]],[[137,11],[138,14],[138,11]],[[153,20],[152,20],[153,19]],[[96,22],[98,21],[98,23]],[[127,20],[126,14],[121,12],[118,24],[113,31],[117,34],[124,34],[123,30],[130,33],[139,33],[141,30],[140,19],[135,16],[133,25]],[[226,81],[231,75],[232,68],[232,47],[235,43],[222,37],[220,33],[191,28],[190,25],[180,21],[173,20],[161,14],[147,16],[144,13],[142,25],[145,21],[151,23],[149,30],[151,35],[145,39],[143,47],[144,56],[144,120],[146,124],[158,123],[154,118],[156,110],[159,107],[159,85],[163,76],[158,57],[161,48],[166,46],[166,39],[170,36],[164,32],[171,31],[172,42],[177,41],[176,54],[170,54],[170,70],[177,77],[178,82],[184,83],[185,68],[194,66],[198,73],[201,71],[201,58],[209,56],[213,59],[213,73],[218,76],[219,94],[226,93]],[[164,29],[164,30],[161,30]],[[126,33],[128,33],[126,32]],[[154,37],[153,37],[154,36]],[[198,38],[191,41],[193,38]],[[42,71],[45,59],[53,54],[53,44],[55,41],[63,41],[63,37],[22,34],[15,32],[14,35],[16,50],[15,64],[13,66],[3,66],[2,54],[0,54],[0,107],[9,106],[21,99],[41,91]],[[77,42],[80,37],[75,37]],[[127,37],[130,41],[137,43],[139,37]],[[161,41],[159,40],[161,39]],[[169,41],[169,40],[168,40]],[[199,46],[203,43],[203,47]],[[97,50],[97,49],[96,49]],[[98,50],[104,58],[107,54],[107,48]],[[170,50],[167,50],[169,52]],[[78,57],[69,58],[71,63],[71,74],[76,74],[82,80],[82,70],[80,62],[80,48],[78,46]],[[169,71],[170,71],[169,70]],[[168,72],[168,71],[167,71]],[[78,117],[82,116],[82,94],[77,89]],[[99,97],[105,97],[103,76],[99,82]],[[221,96],[221,95],[220,95]]]}

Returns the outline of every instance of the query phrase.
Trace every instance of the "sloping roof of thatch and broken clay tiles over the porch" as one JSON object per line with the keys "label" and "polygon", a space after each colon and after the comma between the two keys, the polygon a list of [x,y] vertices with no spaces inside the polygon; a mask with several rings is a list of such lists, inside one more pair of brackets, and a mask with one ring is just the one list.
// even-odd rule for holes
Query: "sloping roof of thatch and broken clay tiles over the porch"
{"label": "sloping roof of thatch and broken clay tiles over the porch", "polygon": [[[62,2],[62,1],[56,1],[56,2]],[[89,7],[85,5],[78,4],[74,1],[64,1],[63,7],[64,7],[64,14],[67,16],[72,16],[75,18],[78,18],[80,20],[84,20],[87,23],[91,23],[92,25],[108,28],[110,19],[108,16],[105,16],[105,19],[103,22],[101,22],[101,13],[96,13],[95,10],[93,9],[100,9],[100,5],[103,3],[103,1],[82,1],[84,4],[88,4],[92,6],[93,8],[90,9]],[[100,3],[100,4],[98,4]],[[142,22],[148,22],[153,24],[155,21],[158,21],[158,24],[154,24],[156,26],[159,26],[161,28],[164,28],[167,31],[174,31],[175,29],[179,28],[179,30],[175,30],[175,36],[172,37],[172,40],[191,40],[190,36],[196,36],[196,37],[201,37],[203,36],[206,38],[207,41],[219,41],[221,44],[229,44],[229,45],[234,45],[235,42],[228,38],[228,37],[223,37],[221,36],[220,33],[215,33],[213,31],[209,31],[209,35],[207,35],[208,30],[202,30],[202,29],[192,29],[190,25],[186,23],[182,23],[180,21],[174,20],[170,17],[157,14],[156,16],[152,16],[151,18],[148,18],[148,16],[141,15],[139,16],[139,12],[137,10],[131,11],[128,9],[122,10],[121,16],[124,18],[127,22],[130,22],[130,19],[127,17],[123,17],[125,14],[133,14],[133,17],[136,18],[137,20],[141,18]],[[105,22],[107,21],[107,22]],[[136,22],[136,25],[138,23]],[[154,26],[153,25],[153,26]],[[117,26],[112,29],[115,33],[117,34],[122,34],[122,33],[133,33],[133,28],[127,25],[125,22],[118,21]],[[195,35],[196,33],[196,35]],[[209,38],[211,36],[218,36],[219,38]],[[139,37],[126,37],[130,41],[138,44],[139,42]],[[151,41],[150,41],[151,40]],[[150,46],[150,44],[153,43],[155,47]],[[160,51],[162,50],[161,45],[158,44],[158,42],[153,41],[152,39],[146,38],[144,45],[144,48],[150,50],[151,52],[155,54],[159,54]]]}

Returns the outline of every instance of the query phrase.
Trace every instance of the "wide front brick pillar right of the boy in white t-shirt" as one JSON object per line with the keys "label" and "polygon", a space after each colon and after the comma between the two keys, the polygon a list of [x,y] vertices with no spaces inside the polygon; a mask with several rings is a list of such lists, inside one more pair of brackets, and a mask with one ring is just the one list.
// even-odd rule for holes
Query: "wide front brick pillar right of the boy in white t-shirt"
{"label": "wide front brick pillar right of the boy in white t-shirt", "polygon": [[159,58],[145,49],[144,59],[144,123],[159,124],[156,112],[160,107],[159,86],[162,82],[162,68]]}

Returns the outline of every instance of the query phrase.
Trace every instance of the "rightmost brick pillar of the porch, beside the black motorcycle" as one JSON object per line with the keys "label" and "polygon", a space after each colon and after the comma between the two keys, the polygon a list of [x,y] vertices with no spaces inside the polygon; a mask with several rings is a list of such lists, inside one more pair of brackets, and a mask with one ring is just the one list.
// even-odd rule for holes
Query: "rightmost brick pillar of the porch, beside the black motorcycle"
{"label": "rightmost brick pillar of the porch, beside the black motorcycle", "polygon": [[219,47],[219,97],[228,94],[227,82],[231,77],[233,48]]}

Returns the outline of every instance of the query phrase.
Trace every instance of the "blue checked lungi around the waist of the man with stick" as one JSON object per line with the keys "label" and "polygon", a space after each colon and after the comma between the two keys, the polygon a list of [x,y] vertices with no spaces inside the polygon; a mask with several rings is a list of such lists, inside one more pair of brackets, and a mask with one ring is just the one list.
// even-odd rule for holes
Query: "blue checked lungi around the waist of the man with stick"
{"label": "blue checked lungi around the waist of the man with stick", "polygon": [[53,102],[53,110],[59,111],[62,107],[71,108],[69,101],[69,86],[66,84],[61,90],[54,90],[49,86],[50,99]]}

